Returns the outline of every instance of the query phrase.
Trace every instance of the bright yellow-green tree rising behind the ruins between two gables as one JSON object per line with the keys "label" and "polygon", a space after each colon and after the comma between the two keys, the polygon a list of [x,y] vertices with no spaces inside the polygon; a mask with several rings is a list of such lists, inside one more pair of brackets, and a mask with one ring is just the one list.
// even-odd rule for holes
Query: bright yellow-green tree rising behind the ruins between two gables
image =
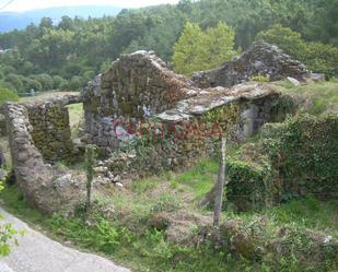
{"label": "bright yellow-green tree rising behind the ruins between two gables", "polygon": [[186,75],[222,64],[236,55],[234,31],[220,22],[202,32],[197,24],[187,23],[174,46],[175,71]]}

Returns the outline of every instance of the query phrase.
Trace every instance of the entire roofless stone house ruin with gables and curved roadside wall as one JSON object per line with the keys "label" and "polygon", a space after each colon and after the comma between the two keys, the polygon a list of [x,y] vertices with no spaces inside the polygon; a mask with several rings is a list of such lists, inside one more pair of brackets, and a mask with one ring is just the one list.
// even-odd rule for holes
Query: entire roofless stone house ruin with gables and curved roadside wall
{"label": "entire roofless stone house ruin with gables and curved roadside wall", "polygon": [[[19,187],[48,213],[82,200],[85,174],[54,164],[77,156],[66,107],[73,103],[84,107],[81,141],[96,144],[103,155],[96,168],[101,185],[186,167],[212,154],[220,133],[242,141],[272,120],[279,102],[276,85],[249,82],[257,74],[302,81],[310,72],[267,44],[256,44],[222,68],[193,79],[175,74],[153,51],[137,51],[114,61],[80,96],[8,104],[1,110]],[[136,147],[119,151],[140,141],[143,130],[151,131],[145,154]]]}

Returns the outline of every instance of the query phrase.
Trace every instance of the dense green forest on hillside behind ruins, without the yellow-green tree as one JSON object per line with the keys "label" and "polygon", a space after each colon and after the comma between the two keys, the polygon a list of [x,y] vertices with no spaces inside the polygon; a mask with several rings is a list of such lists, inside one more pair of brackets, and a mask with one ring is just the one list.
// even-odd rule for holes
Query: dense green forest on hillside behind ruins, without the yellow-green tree
{"label": "dense green forest on hillside behind ruins, without the yellow-green tree", "polygon": [[[0,86],[19,94],[77,91],[120,54],[141,49],[172,64],[187,23],[201,31],[225,23],[233,32],[233,52],[264,39],[330,78],[338,74],[337,14],[338,0],[182,0],[102,19],[63,16],[57,25],[44,17],[38,25],[0,34]],[[209,67],[193,67],[199,68]]]}

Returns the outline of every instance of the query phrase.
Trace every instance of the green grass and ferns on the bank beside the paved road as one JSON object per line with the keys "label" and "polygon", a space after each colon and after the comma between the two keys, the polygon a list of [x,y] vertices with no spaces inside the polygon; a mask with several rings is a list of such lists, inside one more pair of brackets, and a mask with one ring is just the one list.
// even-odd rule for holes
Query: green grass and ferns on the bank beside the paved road
{"label": "green grass and ferns on the bank beside the paved road", "polygon": [[[167,173],[138,180],[125,191],[113,188],[106,197],[96,198],[90,216],[81,206],[74,217],[43,215],[27,205],[16,186],[7,187],[1,199],[12,213],[43,226],[51,236],[128,263],[133,271],[306,271],[295,260],[278,264],[250,262],[233,257],[226,248],[174,244],[166,239],[163,230],[148,225],[153,214],[163,211],[173,216],[176,212],[210,213],[201,211],[195,203],[211,188],[217,170],[217,162],[202,159],[180,174]],[[234,214],[224,211],[223,220],[237,218],[252,224],[257,218],[265,218],[270,233],[281,226],[306,227],[338,238],[337,206],[338,200],[322,202],[308,197],[261,212]],[[112,210],[109,215],[104,212],[108,208]]]}

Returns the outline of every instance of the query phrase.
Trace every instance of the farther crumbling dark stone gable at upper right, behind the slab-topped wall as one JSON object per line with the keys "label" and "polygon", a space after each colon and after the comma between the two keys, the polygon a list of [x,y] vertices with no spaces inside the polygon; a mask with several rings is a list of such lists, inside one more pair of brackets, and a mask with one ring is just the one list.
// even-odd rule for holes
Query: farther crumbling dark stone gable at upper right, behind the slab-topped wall
{"label": "farther crumbling dark stone gable at upper right, behind the slab-topped wall", "polygon": [[277,46],[261,42],[221,68],[194,73],[193,81],[199,87],[231,87],[256,75],[268,75],[271,81],[288,76],[304,81],[310,76],[310,71]]}

